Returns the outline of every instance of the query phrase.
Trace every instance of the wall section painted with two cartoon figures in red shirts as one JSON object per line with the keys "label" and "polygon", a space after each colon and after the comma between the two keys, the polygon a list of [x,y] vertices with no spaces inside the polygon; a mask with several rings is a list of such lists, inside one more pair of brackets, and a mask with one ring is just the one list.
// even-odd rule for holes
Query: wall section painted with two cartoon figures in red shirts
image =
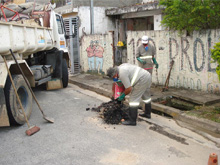
{"label": "wall section painted with two cartoon figures in red shirts", "polygon": [[81,39],[81,70],[105,74],[113,66],[113,35],[85,35]]}

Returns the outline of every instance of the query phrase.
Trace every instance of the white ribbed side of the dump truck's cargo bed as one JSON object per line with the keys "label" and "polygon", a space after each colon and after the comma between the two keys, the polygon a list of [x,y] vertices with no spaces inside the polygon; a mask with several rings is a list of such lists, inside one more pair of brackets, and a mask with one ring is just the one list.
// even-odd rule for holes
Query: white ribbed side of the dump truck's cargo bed
{"label": "white ribbed side of the dump truck's cargo bed", "polygon": [[9,49],[12,49],[25,57],[38,51],[52,49],[53,40],[51,28],[0,22],[0,55],[10,55]]}

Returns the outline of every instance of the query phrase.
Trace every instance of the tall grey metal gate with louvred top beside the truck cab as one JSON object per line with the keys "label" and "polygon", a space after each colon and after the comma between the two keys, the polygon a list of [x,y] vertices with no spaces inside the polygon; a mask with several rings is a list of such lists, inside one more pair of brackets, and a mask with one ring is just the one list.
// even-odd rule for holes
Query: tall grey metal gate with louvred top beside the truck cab
{"label": "tall grey metal gate with louvred top beside the truck cab", "polygon": [[[70,52],[71,73],[80,72],[80,51],[79,51],[79,27],[78,17],[64,18],[66,33],[70,36],[67,40],[68,49]],[[73,34],[74,33],[74,34]]]}

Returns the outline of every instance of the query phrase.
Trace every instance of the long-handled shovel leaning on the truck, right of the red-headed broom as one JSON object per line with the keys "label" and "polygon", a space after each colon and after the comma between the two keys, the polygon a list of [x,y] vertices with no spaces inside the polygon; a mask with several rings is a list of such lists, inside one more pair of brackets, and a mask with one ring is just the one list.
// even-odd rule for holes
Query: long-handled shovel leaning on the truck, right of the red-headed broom
{"label": "long-handled shovel leaning on the truck, right of the red-headed broom", "polygon": [[20,70],[20,72],[21,72],[21,74],[22,74],[22,76],[23,76],[23,78],[24,78],[24,80],[25,80],[25,82],[26,82],[26,84],[27,84],[29,90],[31,91],[31,94],[32,94],[32,96],[33,96],[35,102],[37,103],[37,105],[38,105],[38,107],[39,107],[39,110],[41,111],[41,113],[42,113],[42,115],[43,115],[43,118],[44,118],[46,121],[48,121],[49,123],[54,123],[54,119],[53,119],[53,118],[49,118],[49,117],[47,117],[47,116],[44,114],[44,111],[42,110],[40,104],[38,103],[37,98],[35,97],[35,94],[34,94],[33,90],[31,89],[31,87],[30,87],[30,85],[29,85],[29,83],[28,83],[28,81],[27,81],[27,78],[26,78],[25,75],[24,75],[24,72],[22,71],[20,65],[18,64],[18,61],[17,61],[17,59],[15,58],[14,53],[12,52],[11,49],[9,49],[9,50],[10,50],[11,55],[13,56],[13,58],[14,58],[14,60],[15,60],[15,62],[16,62],[17,67],[18,67],[19,70]]}

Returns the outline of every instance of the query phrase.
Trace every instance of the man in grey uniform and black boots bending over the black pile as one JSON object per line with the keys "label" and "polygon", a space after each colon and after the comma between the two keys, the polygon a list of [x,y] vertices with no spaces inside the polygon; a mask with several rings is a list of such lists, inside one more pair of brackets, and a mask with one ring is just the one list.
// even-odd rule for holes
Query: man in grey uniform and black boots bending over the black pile
{"label": "man in grey uniform and black boots bending over the black pile", "polygon": [[136,125],[137,111],[141,99],[145,103],[144,117],[151,118],[151,74],[132,64],[124,63],[120,66],[109,68],[107,76],[113,78],[114,81],[121,80],[125,90],[117,98],[123,101],[125,96],[129,97],[129,119],[122,122],[124,125]]}

